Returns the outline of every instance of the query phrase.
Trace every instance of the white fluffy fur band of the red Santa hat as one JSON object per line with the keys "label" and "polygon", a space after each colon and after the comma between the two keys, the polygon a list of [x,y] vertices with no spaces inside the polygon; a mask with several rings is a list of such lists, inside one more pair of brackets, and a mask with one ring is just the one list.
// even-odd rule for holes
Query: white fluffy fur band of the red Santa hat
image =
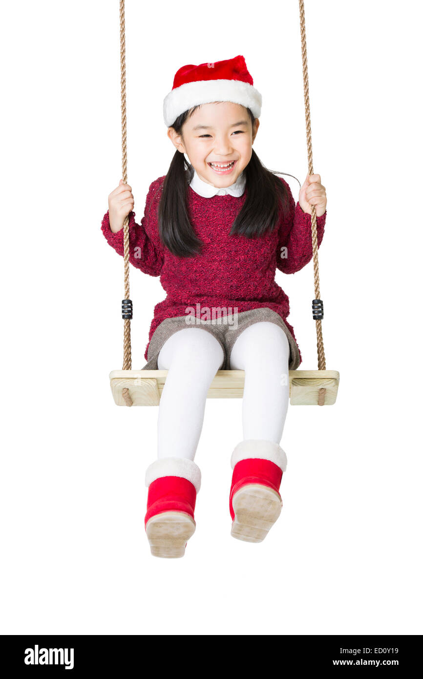
{"label": "white fluffy fur band of the red Santa hat", "polygon": [[184,111],[198,104],[213,101],[233,101],[251,109],[254,117],[261,113],[261,94],[253,85],[242,80],[196,80],[184,83],[170,90],[164,98],[163,115],[166,126],[170,127]]}

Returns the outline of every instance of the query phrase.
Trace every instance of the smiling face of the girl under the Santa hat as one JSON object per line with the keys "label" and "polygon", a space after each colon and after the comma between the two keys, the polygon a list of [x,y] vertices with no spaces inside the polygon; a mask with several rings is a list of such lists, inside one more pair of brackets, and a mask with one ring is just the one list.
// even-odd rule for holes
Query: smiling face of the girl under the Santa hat
{"label": "smiling face of the girl under the Santa hat", "polygon": [[249,164],[258,127],[259,119],[251,126],[244,106],[223,101],[202,104],[187,117],[181,134],[170,127],[168,137],[187,154],[203,181],[224,188],[233,184]]}

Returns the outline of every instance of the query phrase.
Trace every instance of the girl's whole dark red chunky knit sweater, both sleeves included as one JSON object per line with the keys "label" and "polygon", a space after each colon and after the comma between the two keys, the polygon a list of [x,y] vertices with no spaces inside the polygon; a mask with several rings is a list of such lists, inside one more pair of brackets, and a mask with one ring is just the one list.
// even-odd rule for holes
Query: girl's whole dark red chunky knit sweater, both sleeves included
{"label": "girl's whole dark red chunky knit sweater, both sleeves included", "polygon": [[[295,339],[293,327],[287,322],[289,299],[274,278],[276,268],[284,274],[293,274],[312,259],[311,216],[303,212],[298,202],[295,204],[288,183],[282,177],[279,179],[289,191],[289,215],[285,219],[280,217],[277,227],[260,238],[229,236],[247,189],[239,197],[226,194],[204,198],[189,186],[189,219],[204,243],[203,253],[196,257],[177,257],[160,242],[157,213],[164,177],[150,184],[141,225],[135,223],[135,213],[129,213],[129,261],[145,274],[160,276],[167,293],[166,299],[154,307],[146,361],[151,337],[159,323],[170,316],[186,316],[187,307],[197,309],[196,304],[200,304],[201,309],[229,308],[229,314],[235,313],[236,308],[240,313],[268,307],[283,318]],[[317,217],[318,246],[322,242],[326,215],[325,212]],[[123,257],[124,230],[111,231],[109,210],[103,217],[101,230],[107,242]],[[287,249],[286,257],[280,256],[282,246]]]}

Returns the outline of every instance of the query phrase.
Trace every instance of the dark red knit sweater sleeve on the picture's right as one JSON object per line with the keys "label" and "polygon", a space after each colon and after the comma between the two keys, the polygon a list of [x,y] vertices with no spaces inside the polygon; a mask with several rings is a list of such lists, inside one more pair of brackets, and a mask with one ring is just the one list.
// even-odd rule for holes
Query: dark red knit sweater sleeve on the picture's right
{"label": "dark red knit sweater sleeve on the picture's right", "polygon": [[[289,184],[284,183],[289,191],[289,215],[280,225],[276,267],[284,274],[295,274],[313,257],[312,216],[303,212],[299,202],[295,204]],[[326,215],[327,210],[316,217],[318,248],[325,232]]]}

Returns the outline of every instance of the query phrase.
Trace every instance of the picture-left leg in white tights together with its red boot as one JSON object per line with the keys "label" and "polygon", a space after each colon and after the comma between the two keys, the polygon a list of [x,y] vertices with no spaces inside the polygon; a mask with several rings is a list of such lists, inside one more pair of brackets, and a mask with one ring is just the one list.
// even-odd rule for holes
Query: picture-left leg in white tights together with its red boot
{"label": "picture-left leg in white tights together with its red boot", "polygon": [[155,556],[183,556],[196,528],[201,473],[194,456],[208,388],[223,358],[213,335],[188,327],[170,335],[158,355],[158,369],[168,376],[159,406],[158,459],[145,474],[145,531]]}

